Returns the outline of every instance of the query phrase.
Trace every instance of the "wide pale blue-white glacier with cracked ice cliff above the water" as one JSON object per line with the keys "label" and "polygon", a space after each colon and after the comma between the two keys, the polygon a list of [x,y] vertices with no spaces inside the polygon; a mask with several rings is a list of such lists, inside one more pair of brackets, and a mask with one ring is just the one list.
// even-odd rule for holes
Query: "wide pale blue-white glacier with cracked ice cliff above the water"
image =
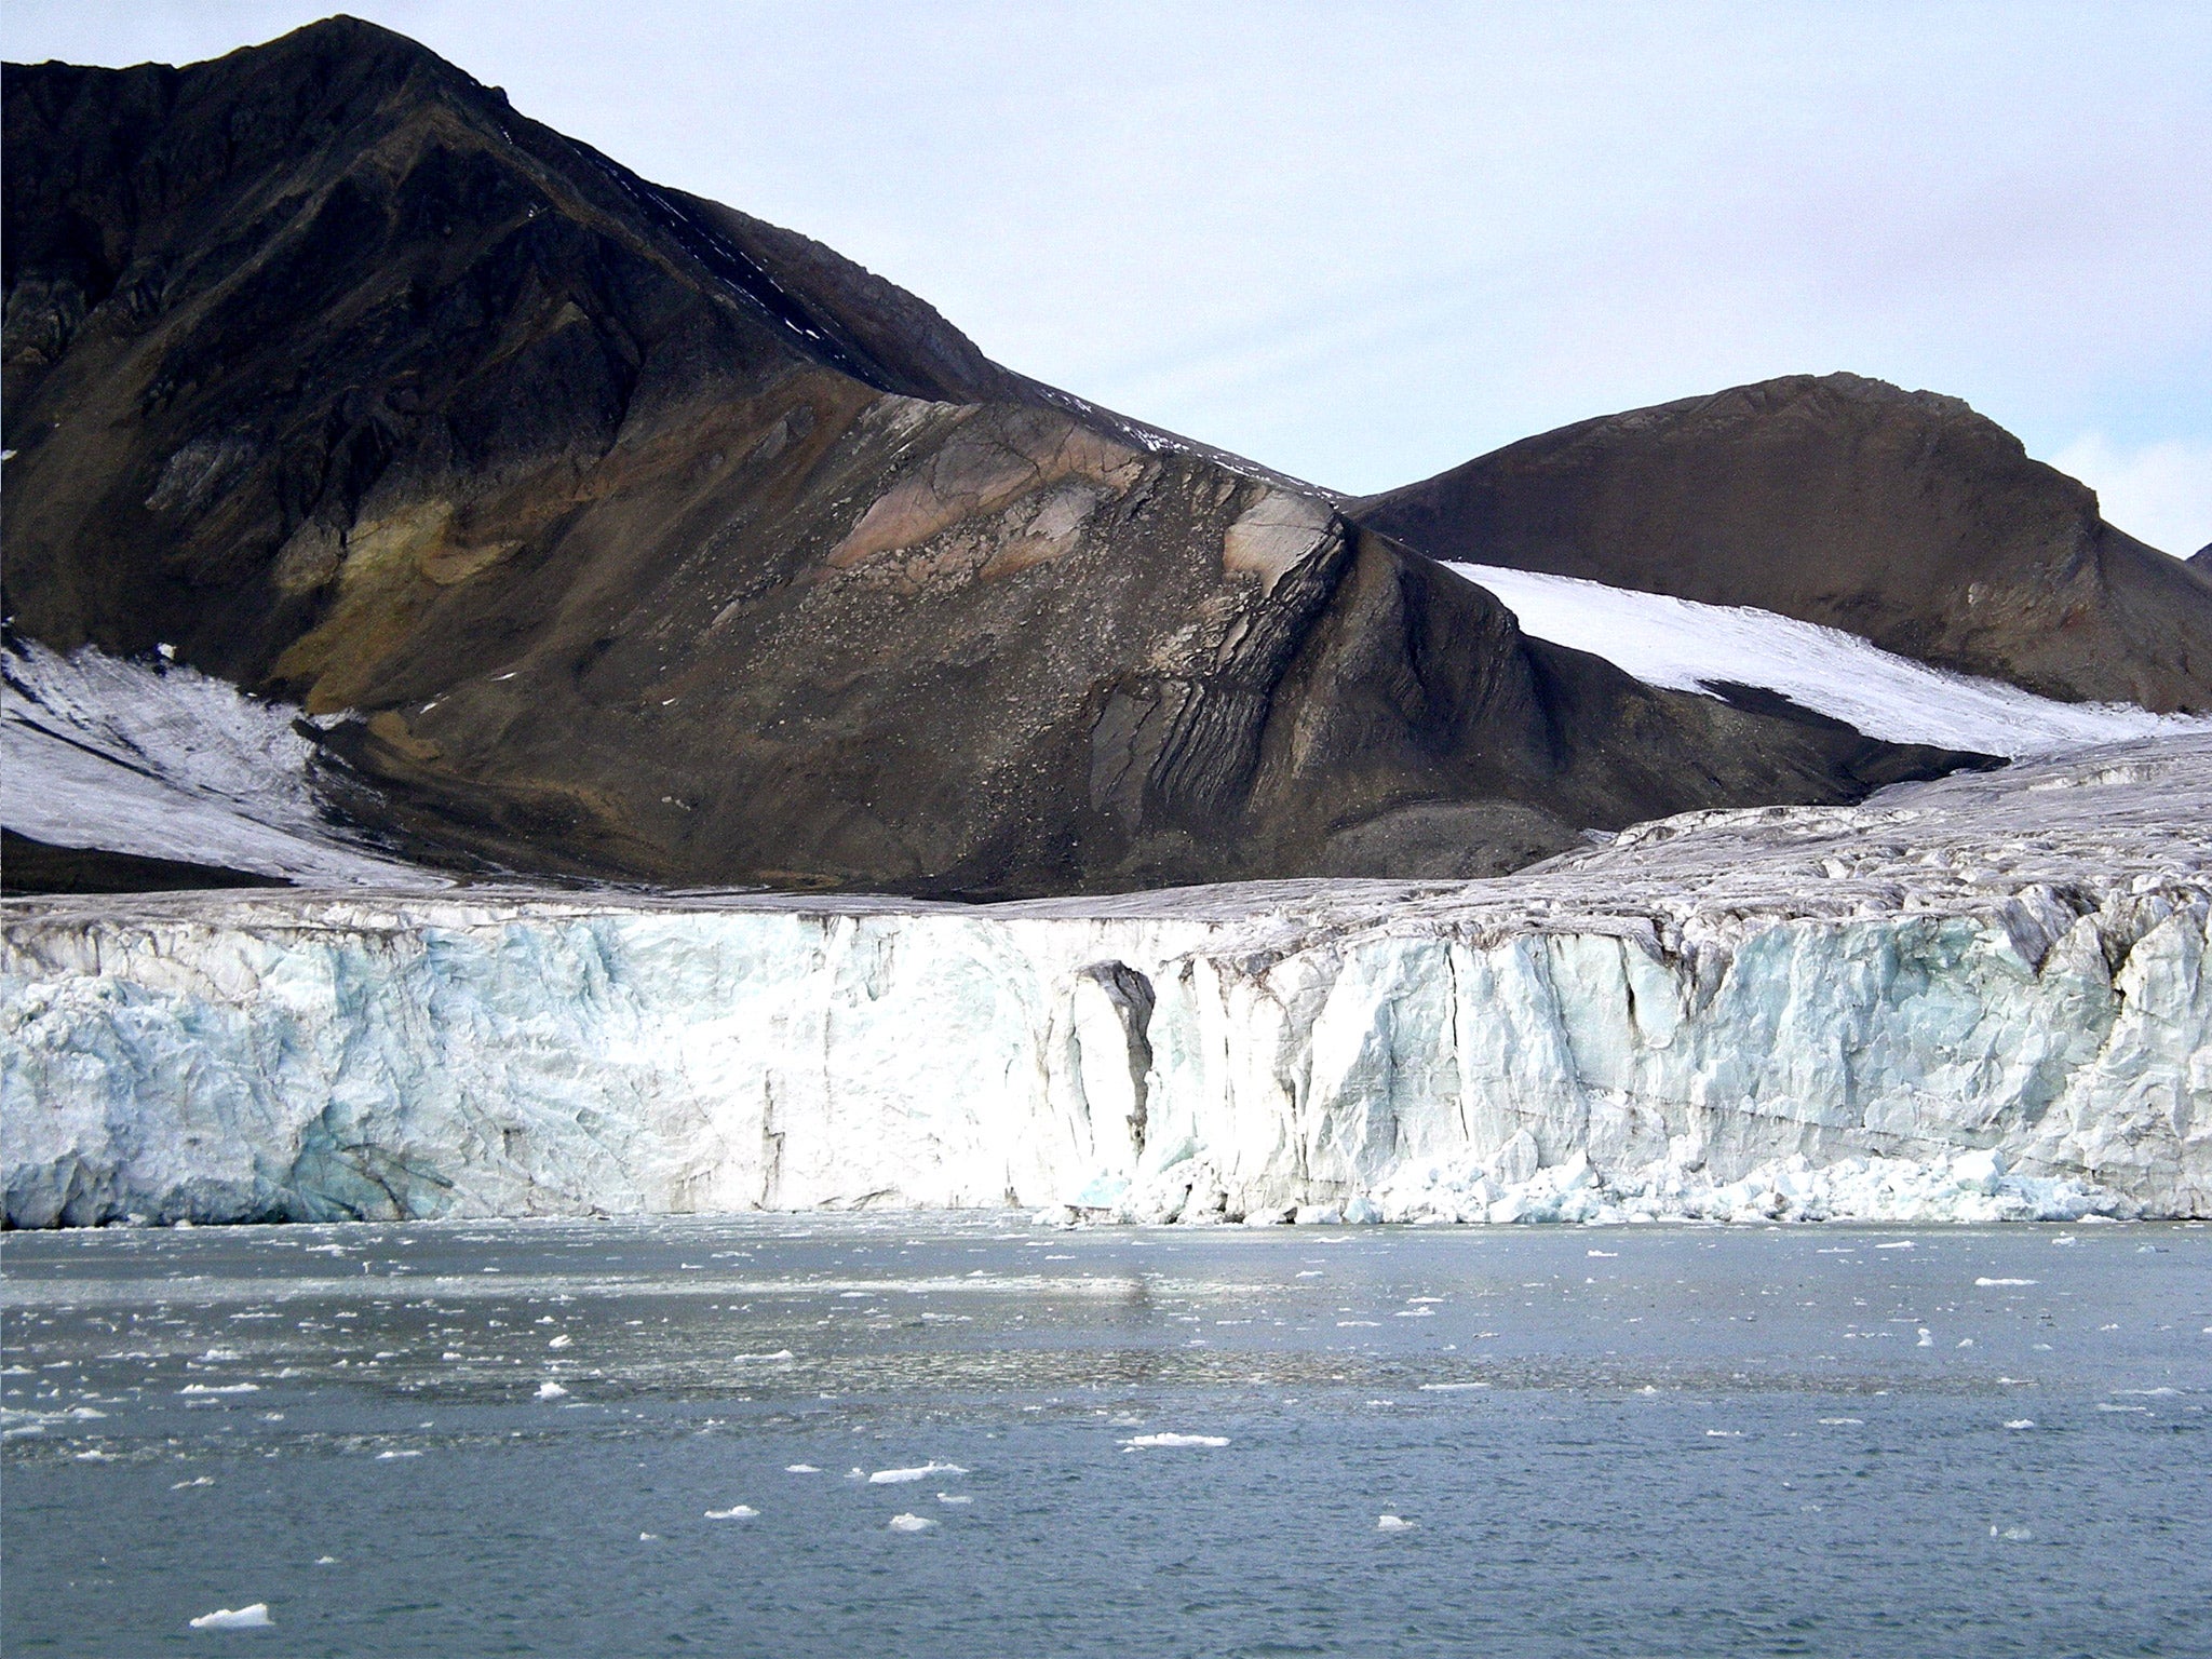
{"label": "wide pale blue-white glacier with cracked ice cliff above the water", "polygon": [[4,1219],[2201,1217],[2208,914],[2201,734],[1475,883],[18,898]]}

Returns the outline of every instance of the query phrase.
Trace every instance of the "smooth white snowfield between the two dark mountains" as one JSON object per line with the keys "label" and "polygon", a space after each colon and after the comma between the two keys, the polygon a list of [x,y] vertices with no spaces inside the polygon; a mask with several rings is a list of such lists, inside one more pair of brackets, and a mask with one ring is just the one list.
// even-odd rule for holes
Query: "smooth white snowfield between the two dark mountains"
{"label": "smooth white snowfield between the two dark mountains", "polygon": [[2059,703],[2000,679],[1896,657],[1858,635],[1750,606],[1692,604],[1571,575],[1449,564],[1489,588],[1535,639],[1588,650],[1646,686],[1776,690],[1891,743],[1978,754],[2057,754],[2137,737],[2212,732],[2212,719],[2132,703]]}

